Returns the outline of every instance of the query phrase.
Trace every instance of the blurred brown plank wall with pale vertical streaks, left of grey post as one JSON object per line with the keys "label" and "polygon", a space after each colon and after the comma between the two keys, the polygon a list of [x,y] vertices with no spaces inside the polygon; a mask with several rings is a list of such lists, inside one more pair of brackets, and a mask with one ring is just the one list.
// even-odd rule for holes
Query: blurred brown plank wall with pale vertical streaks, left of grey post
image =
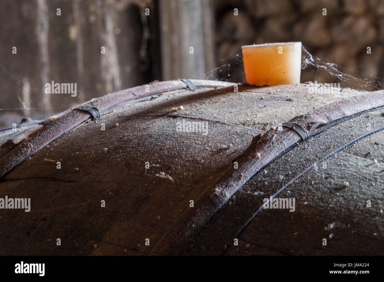
{"label": "blurred brown plank wall with pale vertical streaks, left of grey post", "polygon": [[[146,82],[138,56],[144,11],[136,4],[5,0],[3,6],[0,21],[7,28],[0,35],[2,112],[40,119],[41,113],[61,112]],[[61,15],[56,14],[58,8]],[[13,46],[17,54],[12,54]],[[77,96],[46,94],[45,84],[51,81],[77,83]]]}

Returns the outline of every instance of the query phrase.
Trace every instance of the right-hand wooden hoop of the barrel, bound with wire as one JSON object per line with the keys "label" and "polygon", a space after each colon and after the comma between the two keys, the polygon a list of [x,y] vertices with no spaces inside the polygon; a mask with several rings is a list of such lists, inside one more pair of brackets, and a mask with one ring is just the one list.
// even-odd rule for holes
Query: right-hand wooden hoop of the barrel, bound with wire
{"label": "right-hand wooden hoop of the barrel, bound with wire", "polygon": [[[370,93],[368,97],[360,95],[353,99],[334,102],[308,114],[294,117],[290,121],[301,124],[311,136],[316,134],[319,125],[326,125],[343,117],[381,106],[384,106],[384,92],[376,92]],[[153,254],[179,254],[238,189],[262,167],[299,140],[300,136],[295,131],[285,127],[273,127],[263,135],[255,136],[247,150],[233,161],[238,163],[238,168],[229,167],[215,185],[207,188],[199,196],[196,208],[185,210],[170,232],[157,244]]]}

